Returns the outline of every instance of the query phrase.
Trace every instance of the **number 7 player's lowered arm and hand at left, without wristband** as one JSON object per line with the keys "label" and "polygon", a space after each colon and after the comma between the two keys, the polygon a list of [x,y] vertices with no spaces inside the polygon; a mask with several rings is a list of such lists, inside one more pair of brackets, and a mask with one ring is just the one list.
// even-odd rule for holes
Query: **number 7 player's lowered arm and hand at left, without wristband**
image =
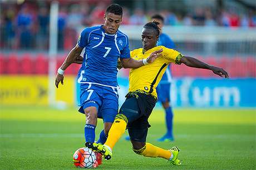
{"label": "number 7 player's lowered arm and hand at left, without wristband", "polygon": [[[65,61],[62,63],[61,65],[61,69],[65,71],[65,69],[67,69],[68,66],[70,66],[70,64],[72,63],[77,63],[80,64],[81,63],[81,52],[82,52],[83,48],[79,47],[78,44],[76,44],[76,46],[74,48],[71,49],[70,53],[68,53]],[[62,74],[58,74],[56,75],[56,79],[55,79],[55,86],[58,88],[58,84],[61,82],[61,84],[63,84],[63,79],[64,76]]]}

